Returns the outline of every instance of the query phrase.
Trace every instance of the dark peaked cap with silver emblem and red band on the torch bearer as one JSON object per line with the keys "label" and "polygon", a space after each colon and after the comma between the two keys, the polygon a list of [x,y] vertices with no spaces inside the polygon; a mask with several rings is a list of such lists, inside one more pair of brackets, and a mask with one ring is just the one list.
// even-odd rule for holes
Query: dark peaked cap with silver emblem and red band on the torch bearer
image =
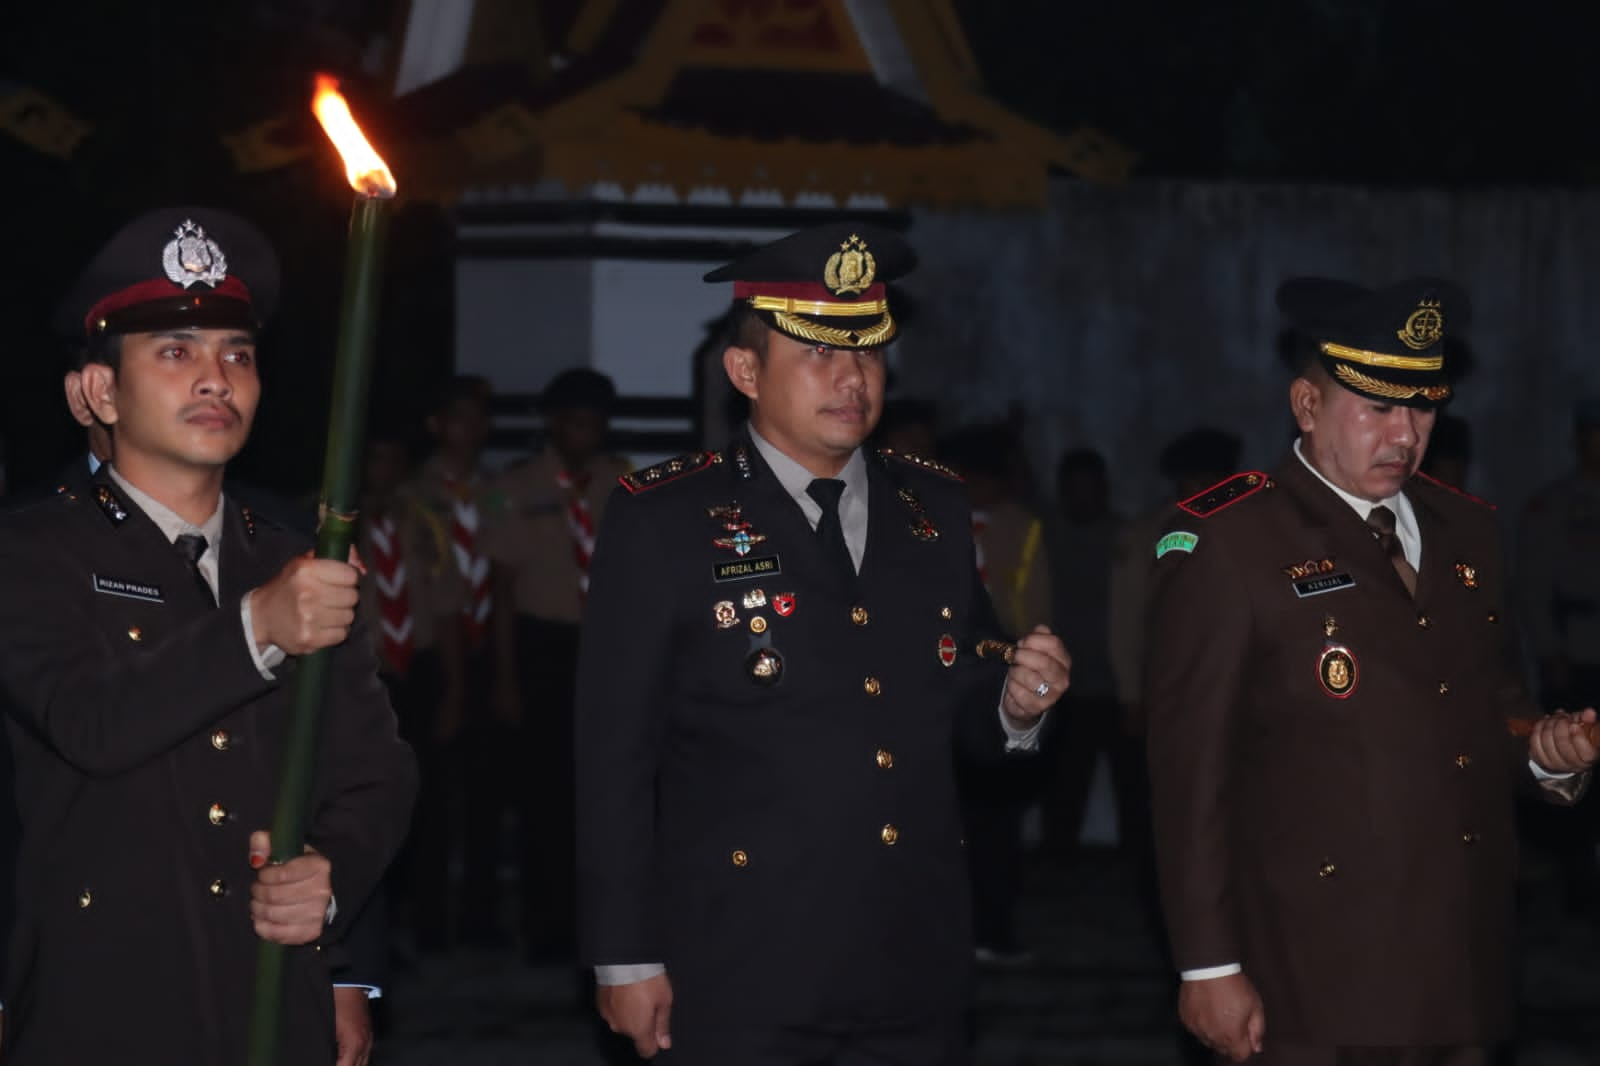
{"label": "dark peaked cap with silver emblem and red band on the torch bearer", "polygon": [[278,258],[251,222],[218,208],[146,211],[90,259],[58,327],[85,336],[256,330],[277,303]]}

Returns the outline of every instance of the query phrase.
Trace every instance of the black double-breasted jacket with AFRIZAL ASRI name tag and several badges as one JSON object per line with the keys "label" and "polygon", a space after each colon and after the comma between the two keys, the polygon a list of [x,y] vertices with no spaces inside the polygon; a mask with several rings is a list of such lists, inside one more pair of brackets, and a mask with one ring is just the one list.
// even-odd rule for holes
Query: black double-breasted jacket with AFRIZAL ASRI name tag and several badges
{"label": "black double-breasted jacket with AFRIZAL ASRI name tag and several badges", "polygon": [[[675,1031],[966,1002],[952,739],[1003,749],[1002,672],[973,653],[995,621],[960,487],[901,458],[867,467],[854,579],[747,440],[624,477],[600,527],[579,656],[581,949],[664,962]],[[770,683],[763,653],[781,656]]]}

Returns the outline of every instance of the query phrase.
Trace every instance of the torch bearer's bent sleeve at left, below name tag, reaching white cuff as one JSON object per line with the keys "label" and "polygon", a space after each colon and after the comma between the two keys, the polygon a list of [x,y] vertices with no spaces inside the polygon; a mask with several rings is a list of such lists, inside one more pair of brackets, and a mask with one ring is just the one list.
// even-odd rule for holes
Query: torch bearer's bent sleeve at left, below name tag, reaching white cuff
{"label": "torch bearer's bent sleeve at left, below name tag, reaching white cuff", "polygon": [[237,599],[170,632],[115,640],[91,616],[88,584],[67,549],[0,535],[8,711],[75,770],[131,770],[274,685],[250,655]]}

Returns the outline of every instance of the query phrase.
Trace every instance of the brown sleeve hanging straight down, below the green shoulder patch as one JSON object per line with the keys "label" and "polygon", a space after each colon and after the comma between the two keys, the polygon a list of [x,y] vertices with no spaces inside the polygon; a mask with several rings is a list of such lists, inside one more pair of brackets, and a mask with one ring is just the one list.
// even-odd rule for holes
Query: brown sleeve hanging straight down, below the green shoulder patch
{"label": "brown sleeve hanging straight down, below the green shoulder patch", "polygon": [[1155,563],[1146,632],[1150,800],[1162,904],[1178,970],[1240,960],[1229,776],[1251,619],[1227,552],[1206,544]]}

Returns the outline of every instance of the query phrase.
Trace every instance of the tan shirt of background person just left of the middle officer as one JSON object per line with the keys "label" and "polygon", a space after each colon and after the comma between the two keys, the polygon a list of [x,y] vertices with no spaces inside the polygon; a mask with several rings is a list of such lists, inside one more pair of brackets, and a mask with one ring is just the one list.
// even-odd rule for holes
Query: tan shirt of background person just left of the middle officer
{"label": "tan shirt of background person just left of the middle officer", "polygon": [[[627,463],[613,455],[590,461],[582,498],[595,530],[616,480],[627,471]],[[494,479],[502,520],[494,527],[488,552],[515,575],[512,607],[518,615],[578,623],[582,616],[579,570],[568,525],[566,490],[557,482],[560,472],[560,458],[544,450]]]}

